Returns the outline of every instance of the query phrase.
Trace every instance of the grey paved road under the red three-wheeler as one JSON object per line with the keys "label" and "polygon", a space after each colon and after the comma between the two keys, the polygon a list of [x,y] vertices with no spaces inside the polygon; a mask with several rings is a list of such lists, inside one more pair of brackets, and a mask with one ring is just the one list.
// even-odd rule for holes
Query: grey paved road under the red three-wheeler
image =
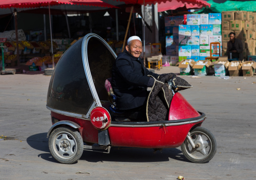
{"label": "grey paved road under the red three-wheeler", "polygon": [[[164,67],[157,73],[178,72]],[[216,137],[217,152],[205,164],[186,160],[180,148],[84,151],[78,163],[57,163],[48,149],[51,126],[46,109],[50,76],[0,76],[0,179],[255,179],[256,78],[190,78],[181,94],[207,115],[203,127]],[[240,88],[240,90],[237,90]],[[88,172],[88,173],[76,173]]]}

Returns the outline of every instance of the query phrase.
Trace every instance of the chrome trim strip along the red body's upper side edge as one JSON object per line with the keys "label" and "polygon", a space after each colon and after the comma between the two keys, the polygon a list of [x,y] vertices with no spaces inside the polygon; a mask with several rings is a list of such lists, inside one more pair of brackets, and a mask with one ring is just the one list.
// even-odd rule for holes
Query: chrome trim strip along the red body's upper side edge
{"label": "chrome trim strip along the red body's upper side edge", "polygon": [[202,120],[204,120],[204,118],[200,118],[194,121],[186,121],[186,122],[177,122],[177,123],[166,123],[165,121],[159,121],[159,124],[147,124],[147,125],[143,125],[143,124],[138,124],[138,125],[128,125],[128,124],[110,124],[111,127],[158,127],[158,126],[162,126],[163,124],[167,127],[167,126],[177,126],[177,125],[183,125],[183,124],[191,124],[191,123],[196,123],[196,122],[200,122]]}

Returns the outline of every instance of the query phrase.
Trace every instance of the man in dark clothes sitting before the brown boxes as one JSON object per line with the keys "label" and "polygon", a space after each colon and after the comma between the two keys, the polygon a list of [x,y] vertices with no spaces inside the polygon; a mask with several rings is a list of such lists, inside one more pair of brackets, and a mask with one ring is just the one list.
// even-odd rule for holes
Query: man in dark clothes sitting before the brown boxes
{"label": "man in dark clothes sitting before the brown boxes", "polygon": [[232,59],[237,59],[239,61],[243,60],[243,44],[241,40],[235,38],[235,33],[229,33],[228,49],[226,56],[230,58],[230,53],[232,54]]}

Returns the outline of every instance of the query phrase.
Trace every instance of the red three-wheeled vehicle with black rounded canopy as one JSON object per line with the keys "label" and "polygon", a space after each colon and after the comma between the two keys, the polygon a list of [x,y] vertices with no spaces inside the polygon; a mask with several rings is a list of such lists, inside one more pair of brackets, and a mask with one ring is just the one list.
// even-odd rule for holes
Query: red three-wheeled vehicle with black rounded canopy
{"label": "red three-wheeled vehicle with black rounded canopy", "polygon": [[[116,55],[98,35],[88,34],[60,58],[52,74],[47,109],[52,126],[47,133],[52,156],[74,163],[83,150],[110,152],[111,147],[176,148],[191,162],[205,163],[216,152],[213,134],[201,127],[206,115],[173,93],[168,120],[121,121],[111,112],[106,79]],[[61,94],[61,98],[60,98]]]}

